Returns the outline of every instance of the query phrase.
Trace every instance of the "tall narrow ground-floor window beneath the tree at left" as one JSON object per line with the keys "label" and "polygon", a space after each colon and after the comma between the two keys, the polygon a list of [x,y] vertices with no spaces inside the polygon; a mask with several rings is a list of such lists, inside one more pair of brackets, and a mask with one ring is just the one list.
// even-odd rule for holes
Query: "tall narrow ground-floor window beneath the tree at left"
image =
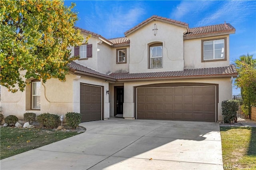
{"label": "tall narrow ground-floor window beneath the tree at left", "polygon": [[41,108],[41,82],[37,79],[31,82],[32,84],[32,93],[31,93],[31,109],[40,109]]}

